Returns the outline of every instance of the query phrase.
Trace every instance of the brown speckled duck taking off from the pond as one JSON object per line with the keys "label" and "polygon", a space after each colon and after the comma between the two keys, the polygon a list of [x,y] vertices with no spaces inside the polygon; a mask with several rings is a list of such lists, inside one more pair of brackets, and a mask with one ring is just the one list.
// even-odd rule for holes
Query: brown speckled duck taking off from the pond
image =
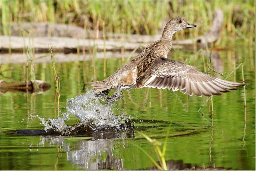
{"label": "brown speckled duck taking off from the pond", "polygon": [[[102,81],[90,82],[95,93],[105,95],[105,103],[110,103],[120,98],[121,91],[131,88],[167,88],[172,91],[180,90],[190,96],[212,97],[244,86],[243,83],[215,78],[198,71],[194,66],[167,58],[172,48],[172,36],[178,31],[193,27],[196,25],[189,24],[181,17],[170,19],[158,41],[148,45],[111,76]],[[110,89],[116,89],[116,93],[107,96]]]}

